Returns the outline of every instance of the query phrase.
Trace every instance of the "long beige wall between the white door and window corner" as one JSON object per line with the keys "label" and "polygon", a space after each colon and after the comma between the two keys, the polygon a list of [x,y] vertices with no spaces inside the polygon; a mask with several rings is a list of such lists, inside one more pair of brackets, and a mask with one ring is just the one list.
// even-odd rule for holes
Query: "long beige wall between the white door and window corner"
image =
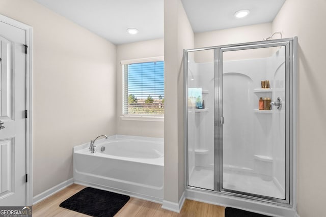
{"label": "long beige wall between the white door and window corner", "polygon": [[72,147],[116,133],[116,46],[31,0],[0,14],[33,27],[34,196],[72,178]]}

